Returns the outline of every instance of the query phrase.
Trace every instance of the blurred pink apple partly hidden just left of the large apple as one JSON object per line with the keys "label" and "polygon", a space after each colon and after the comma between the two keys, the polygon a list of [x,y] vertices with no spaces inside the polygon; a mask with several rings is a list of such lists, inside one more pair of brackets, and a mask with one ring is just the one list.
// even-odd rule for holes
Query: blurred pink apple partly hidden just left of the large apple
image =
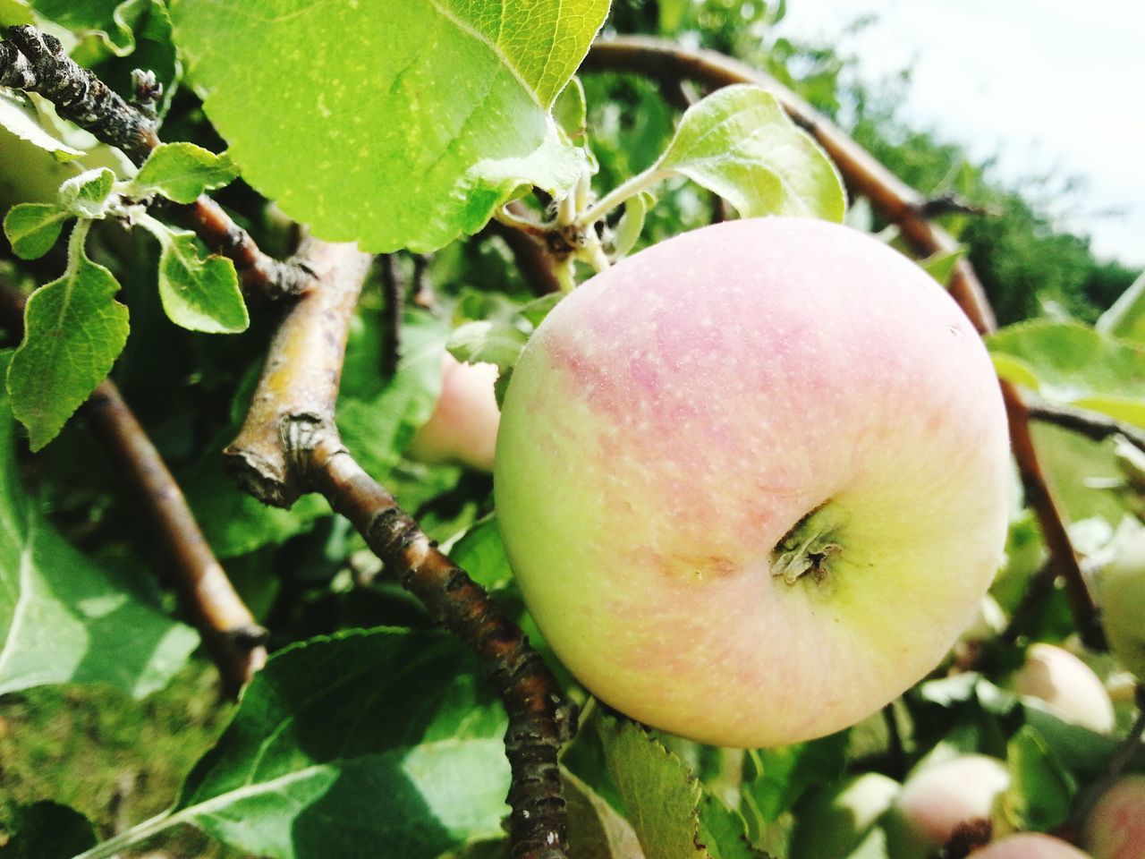
{"label": "blurred pink apple partly hidden just left of the large apple", "polygon": [[423,463],[457,463],[492,471],[500,420],[496,381],[495,364],[463,363],[447,352],[437,404],[413,434],[406,455]]}

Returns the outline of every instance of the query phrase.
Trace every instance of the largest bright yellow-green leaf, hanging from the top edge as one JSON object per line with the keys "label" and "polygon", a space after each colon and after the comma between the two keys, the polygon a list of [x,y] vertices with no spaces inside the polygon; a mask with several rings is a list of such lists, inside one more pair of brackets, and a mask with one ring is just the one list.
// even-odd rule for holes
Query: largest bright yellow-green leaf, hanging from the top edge
{"label": "largest bright yellow-green leaf, hanging from the top edge", "polygon": [[564,196],[586,157],[550,111],[608,0],[395,9],[172,5],[189,74],[243,176],[323,238],[374,252],[476,233],[522,186]]}

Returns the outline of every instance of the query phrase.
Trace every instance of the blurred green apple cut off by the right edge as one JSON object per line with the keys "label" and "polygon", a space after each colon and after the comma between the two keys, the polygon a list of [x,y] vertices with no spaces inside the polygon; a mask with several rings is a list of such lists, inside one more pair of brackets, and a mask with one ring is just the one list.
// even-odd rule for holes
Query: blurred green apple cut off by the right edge
{"label": "blurred green apple cut off by the right edge", "polygon": [[1110,649],[1138,680],[1145,681],[1145,529],[1098,576],[1101,625]]}

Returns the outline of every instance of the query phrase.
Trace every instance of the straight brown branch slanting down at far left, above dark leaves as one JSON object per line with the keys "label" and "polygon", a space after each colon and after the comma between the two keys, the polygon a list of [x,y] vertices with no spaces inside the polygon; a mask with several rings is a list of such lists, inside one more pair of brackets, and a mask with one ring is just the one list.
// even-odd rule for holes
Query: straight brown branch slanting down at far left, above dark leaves
{"label": "straight brown branch slanting down at far left, above dark leaves", "polygon": [[[0,324],[14,333],[23,330],[23,295],[0,286]],[[219,667],[226,694],[235,698],[267,661],[267,631],[254,622],[235,591],[182,490],[116,385],[110,380],[101,383],[84,404],[82,413],[150,513],[174,561],[175,588]]]}

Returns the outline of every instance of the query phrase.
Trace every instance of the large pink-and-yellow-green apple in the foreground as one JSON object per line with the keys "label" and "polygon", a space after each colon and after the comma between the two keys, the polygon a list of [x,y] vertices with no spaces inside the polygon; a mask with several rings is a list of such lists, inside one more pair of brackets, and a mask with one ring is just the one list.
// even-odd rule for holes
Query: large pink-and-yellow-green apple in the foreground
{"label": "large pink-and-yellow-green apple in the foreground", "polygon": [[768,218],[558,305],[514,368],[493,486],[581,683],[767,747],[859,722],[943,657],[1001,560],[1009,481],[997,379],[946,292],[864,234]]}

